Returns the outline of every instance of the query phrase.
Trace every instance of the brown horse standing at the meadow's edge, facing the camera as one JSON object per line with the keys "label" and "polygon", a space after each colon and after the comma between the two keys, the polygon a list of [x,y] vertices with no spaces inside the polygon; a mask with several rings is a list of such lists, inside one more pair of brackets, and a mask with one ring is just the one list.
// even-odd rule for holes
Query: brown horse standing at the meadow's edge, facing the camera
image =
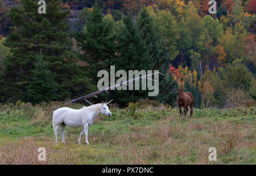
{"label": "brown horse standing at the meadow's edge, facing the camera", "polygon": [[181,106],[184,106],[184,114],[185,117],[187,115],[188,111],[188,106],[190,107],[190,118],[193,113],[193,102],[194,102],[194,97],[192,93],[190,92],[182,92],[183,89],[177,89],[178,91],[178,96],[177,96],[177,105],[179,106],[180,109],[180,117],[181,117]]}

